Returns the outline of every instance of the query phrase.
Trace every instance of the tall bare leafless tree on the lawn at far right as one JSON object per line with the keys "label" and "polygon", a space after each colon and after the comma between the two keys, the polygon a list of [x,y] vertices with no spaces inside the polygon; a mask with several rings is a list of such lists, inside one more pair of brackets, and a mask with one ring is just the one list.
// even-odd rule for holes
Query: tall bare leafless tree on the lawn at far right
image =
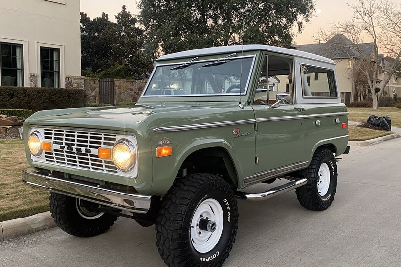
{"label": "tall bare leafless tree on the lawn at far right", "polygon": [[[329,40],[336,34],[346,37],[336,38],[332,41],[332,47],[346,52],[356,72],[364,75],[372,95],[373,108],[378,109],[378,98],[401,66],[401,4],[396,5],[390,0],[357,0],[355,5],[348,7],[354,12],[352,19],[334,23],[331,32],[321,31],[317,38]],[[370,54],[364,50],[366,37],[374,43]],[[378,79],[377,64],[379,48],[394,59],[381,81]]]}

